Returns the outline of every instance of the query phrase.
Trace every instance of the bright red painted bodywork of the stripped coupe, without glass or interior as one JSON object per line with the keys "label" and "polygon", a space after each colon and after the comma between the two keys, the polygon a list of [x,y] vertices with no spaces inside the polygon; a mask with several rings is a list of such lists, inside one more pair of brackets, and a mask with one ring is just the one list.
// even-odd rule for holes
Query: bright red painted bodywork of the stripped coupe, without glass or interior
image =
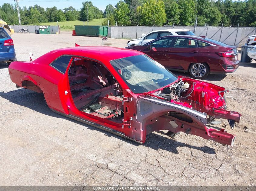
{"label": "bright red painted bodywork of the stripped coupe, without glass or interior", "polygon": [[[157,116],[159,113],[152,114],[152,116],[150,116],[151,121],[148,119],[148,121],[143,123],[143,126],[141,126],[141,123],[138,123],[134,117],[137,114],[136,100],[139,96],[143,95],[133,93],[109,62],[112,59],[120,59],[140,54],[144,53],[130,49],[105,46],[76,46],[53,50],[32,62],[12,62],[9,66],[9,74],[11,80],[20,87],[22,87],[22,82],[27,80],[33,82],[35,85],[41,88],[44,93],[45,100],[51,109],[66,115],[73,115],[81,119],[86,119],[101,126],[115,129],[116,131],[124,133],[127,137],[144,143],[147,134],[145,126],[151,123],[152,118],[156,117],[159,119],[157,120],[158,122],[155,123],[154,130],[162,130],[161,128],[165,129],[167,126],[170,126],[167,123],[166,118],[162,117],[162,115],[168,112],[168,110],[161,111],[161,116]],[[103,65],[105,65],[109,72],[118,81],[118,84],[120,84],[123,90],[123,98],[117,99],[117,97],[107,94],[102,99],[102,102],[106,105],[111,105],[113,102],[115,102],[118,104],[118,106],[121,106],[121,102],[123,100],[124,123],[116,123],[108,119],[100,118],[97,116],[97,114],[91,115],[84,113],[75,107],[73,98],[70,93],[67,71],[65,74],[62,74],[49,65],[51,62],[62,55],[72,55],[81,58],[85,57],[87,59],[97,60],[97,62],[101,62]],[[71,65],[71,61],[69,65]],[[178,102],[171,100],[171,103],[175,103],[191,109],[194,108],[195,110],[206,112],[212,115],[214,114],[216,115],[216,118],[221,115],[226,115],[229,117],[227,119],[231,119],[231,117],[236,118],[237,120],[238,118],[240,119],[239,113],[231,113],[230,111],[224,109],[214,110],[214,108],[222,107],[223,104],[225,104],[224,100],[221,100],[218,96],[218,91],[224,91],[224,88],[211,83],[197,81],[191,78],[185,78],[181,76],[179,78],[182,78],[184,82],[188,82],[190,84],[188,93],[190,92],[192,84],[194,83],[194,91],[187,99],[180,99],[181,101]],[[65,94],[66,91],[67,94]],[[154,95],[155,91],[145,92],[144,96],[151,96],[155,97],[155,99],[163,100],[164,98]],[[203,92],[204,97],[202,97]],[[221,96],[223,96],[223,93],[221,93]],[[221,118],[223,118],[223,116],[221,116]],[[160,119],[163,121],[158,125],[158,123],[161,122]],[[170,129],[170,127],[167,128],[173,132],[189,132],[190,134],[198,135],[206,139],[211,138],[222,144],[229,145],[234,139],[234,135],[227,134],[226,132],[207,129],[203,123],[200,123],[199,119],[193,119],[195,121],[193,124],[189,124],[176,118],[174,120],[177,124],[179,124],[179,126],[183,126],[182,128],[178,127],[176,129]],[[165,123],[166,126],[164,125]],[[218,136],[221,136],[221,138]]]}

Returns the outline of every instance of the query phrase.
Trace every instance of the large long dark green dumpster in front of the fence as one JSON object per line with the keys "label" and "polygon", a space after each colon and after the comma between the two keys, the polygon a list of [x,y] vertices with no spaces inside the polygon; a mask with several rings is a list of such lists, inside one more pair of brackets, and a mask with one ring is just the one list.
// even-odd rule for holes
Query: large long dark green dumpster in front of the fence
{"label": "large long dark green dumpster in front of the fence", "polygon": [[75,33],[78,36],[107,37],[108,27],[75,25]]}

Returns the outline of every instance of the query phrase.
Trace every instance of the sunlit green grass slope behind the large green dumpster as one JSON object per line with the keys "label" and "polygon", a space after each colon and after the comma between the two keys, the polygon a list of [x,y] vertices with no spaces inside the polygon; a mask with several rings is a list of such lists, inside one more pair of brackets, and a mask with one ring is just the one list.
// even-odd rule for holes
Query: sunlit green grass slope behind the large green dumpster
{"label": "sunlit green grass slope behind the large green dumpster", "polygon": [[[88,25],[101,25],[103,19],[93,19],[92,21],[88,22]],[[83,21],[63,21],[58,22],[58,25],[62,30],[75,30],[75,25],[83,25]],[[57,22],[49,22],[49,23],[41,23],[40,25],[53,25],[56,26]],[[87,21],[85,21],[85,25],[87,25]]]}

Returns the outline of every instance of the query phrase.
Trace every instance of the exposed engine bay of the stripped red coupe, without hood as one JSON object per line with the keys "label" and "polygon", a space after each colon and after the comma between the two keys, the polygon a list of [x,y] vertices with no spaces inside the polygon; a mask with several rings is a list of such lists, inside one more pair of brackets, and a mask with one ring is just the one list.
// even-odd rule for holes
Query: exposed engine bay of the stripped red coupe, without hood
{"label": "exposed engine bay of the stripped red coupe, without hood", "polygon": [[163,90],[155,92],[154,95],[162,97],[167,101],[186,103],[186,107],[206,113],[207,121],[211,125],[219,124],[221,121],[214,119],[228,119],[231,128],[234,123],[239,123],[241,115],[234,111],[228,111],[223,87],[211,83],[193,80],[191,78],[179,77],[179,80]]}

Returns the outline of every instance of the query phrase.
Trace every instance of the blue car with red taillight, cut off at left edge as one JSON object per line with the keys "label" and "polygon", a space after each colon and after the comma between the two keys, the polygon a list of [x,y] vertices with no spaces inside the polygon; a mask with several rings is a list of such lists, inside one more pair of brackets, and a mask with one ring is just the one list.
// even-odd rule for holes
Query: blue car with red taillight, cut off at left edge
{"label": "blue car with red taillight, cut off at left edge", "polygon": [[12,38],[0,27],[0,62],[7,62],[10,65],[13,61],[16,61],[16,54]]}

